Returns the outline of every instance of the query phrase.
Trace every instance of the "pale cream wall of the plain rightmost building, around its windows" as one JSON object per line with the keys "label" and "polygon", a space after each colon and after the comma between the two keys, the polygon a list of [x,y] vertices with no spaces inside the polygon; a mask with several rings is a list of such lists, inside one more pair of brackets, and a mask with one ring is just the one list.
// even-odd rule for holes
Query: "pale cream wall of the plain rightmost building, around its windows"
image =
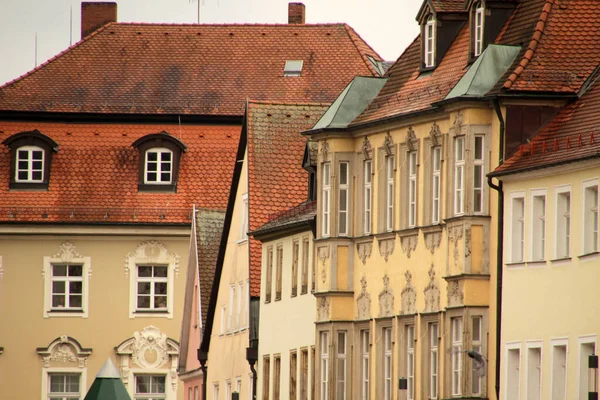
{"label": "pale cream wall of the plain rightmost building, around its windows", "polygon": [[[519,350],[520,398],[528,398],[532,375],[528,374],[530,348],[541,348],[541,397],[551,397],[559,378],[553,375],[556,358],[554,345],[567,346],[566,398],[587,399],[587,389],[580,390],[580,379],[587,379],[587,358],[582,354],[581,345],[589,343],[596,347],[600,324],[595,311],[600,307],[597,283],[600,282],[600,257],[598,253],[584,254],[583,243],[583,184],[598,182],[600,177],[598,162],[578,162],[537,172],[515,175],[504,180],[504,304],[502,318],[503,398],[512,393],[509,386],[514,384],[514,363],[507,360],[509,350]],[[570,185],[571,190],[571,240],[570,257],[557,260],[555,235],[559,230],[557,217],[557,189]],[[532,224],[532,191],[546,191],[546,246],[543,261],[531,262],[531,245],[534,237],[541,232]],[[511,262],[511,240],[515,229],[511,220],[512,199],[523,195],[525,198],[525,257],[524,262]],[[596,205],[597,207],[597,205]],[[587,219],[588,222],[590,221]],[[537,350],[536,350],[537,351]],[[507,372],[512,370],[512,379]],[[561,371],[561,369],[559,369]],[[584,385],[585,387],[586,385]],[[584,397],[582,397],[584,396]],[[565,397],[561,397],[565,398]],[[511,399],[512,400],[512,399]]]}

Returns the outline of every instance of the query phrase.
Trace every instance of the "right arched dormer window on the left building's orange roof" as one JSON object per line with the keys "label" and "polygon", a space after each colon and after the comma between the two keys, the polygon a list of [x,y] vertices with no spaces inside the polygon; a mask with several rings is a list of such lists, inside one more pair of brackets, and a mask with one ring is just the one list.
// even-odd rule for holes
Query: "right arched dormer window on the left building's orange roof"
{"label": "right arched dormer window on the left building's orange roof", "polygon": [[139,191],[176,192],[181,155],[187,147],[167,132],[146,135],[133,143],[140,152]]}

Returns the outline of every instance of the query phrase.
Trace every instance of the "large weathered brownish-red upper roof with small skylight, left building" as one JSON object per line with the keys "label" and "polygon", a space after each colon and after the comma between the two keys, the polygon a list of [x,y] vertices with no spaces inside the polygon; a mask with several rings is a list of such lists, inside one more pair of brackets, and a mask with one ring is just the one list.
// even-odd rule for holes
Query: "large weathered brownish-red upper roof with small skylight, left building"
{"label": "large weathered brownish-red upper roof with small skylight, left building", "polygon": [[241,116],[246,98],[331,102],[376,74],[367,55],[380,59],[346,24],[112,23],[0,87],[0,110]]}

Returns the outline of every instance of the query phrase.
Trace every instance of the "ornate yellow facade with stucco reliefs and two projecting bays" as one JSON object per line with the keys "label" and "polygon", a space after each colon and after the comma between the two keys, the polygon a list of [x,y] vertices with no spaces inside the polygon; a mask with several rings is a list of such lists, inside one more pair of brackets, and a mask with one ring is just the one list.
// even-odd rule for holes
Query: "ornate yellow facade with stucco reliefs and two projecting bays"
{"label": "ornate yellow facade with stucco reliefs and two projecting bays", "polygon": [[[487,105],[460,107],[351,137],[313,135],[319,142],[316,399],[495,397],[497,196],[485,174],[497,165],[499,123]],[[344,193],[351,217],[340,234]],[[466,355],[472,349],[487,368],[474,369]],[[398,390],[400,378],[405,391]]]}

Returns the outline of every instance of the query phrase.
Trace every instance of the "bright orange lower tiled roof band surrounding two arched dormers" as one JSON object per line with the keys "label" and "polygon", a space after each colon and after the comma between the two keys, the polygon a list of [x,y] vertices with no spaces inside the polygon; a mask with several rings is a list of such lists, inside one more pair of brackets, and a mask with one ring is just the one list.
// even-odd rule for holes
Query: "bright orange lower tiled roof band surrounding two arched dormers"
{"label": "bright orange lower tiled roof band surrounding two arched dormers", "polygon": [[[48,190],[9,190],[11,155],[0,146],[0,221],[191,223],[194,203],[227,206],[240,126],[0,121],[0,142],[34,129],[59,144]],[[187,145],[177,193],[138,192],[132,143],[163,130]]]}

